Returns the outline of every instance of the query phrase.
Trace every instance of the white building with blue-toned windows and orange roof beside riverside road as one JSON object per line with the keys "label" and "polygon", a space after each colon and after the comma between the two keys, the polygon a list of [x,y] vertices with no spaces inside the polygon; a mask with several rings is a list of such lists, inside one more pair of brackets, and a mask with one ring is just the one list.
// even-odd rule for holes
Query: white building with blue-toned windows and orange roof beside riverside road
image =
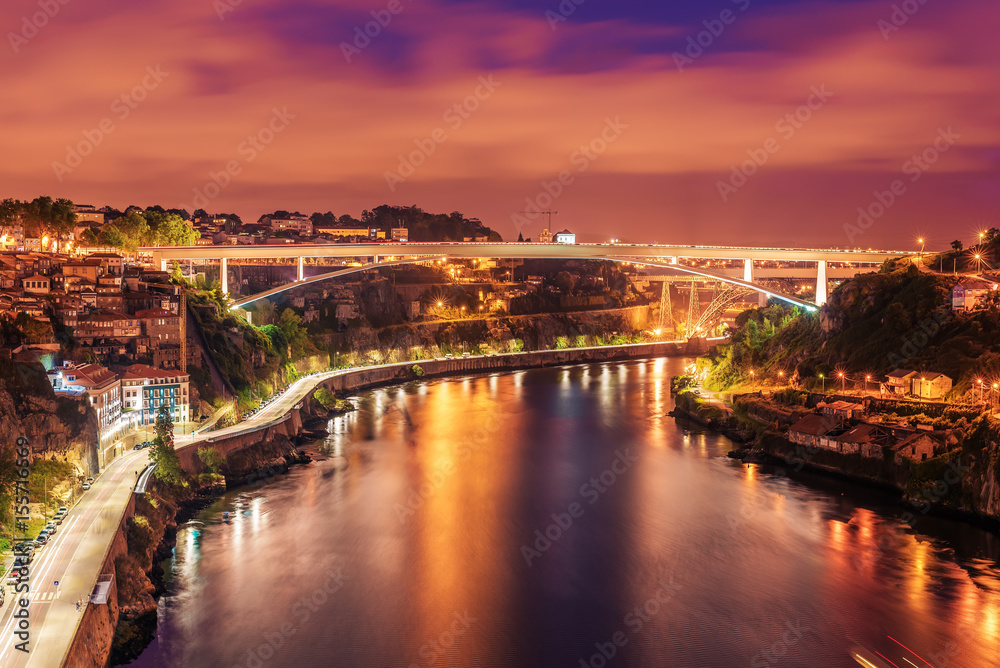
{"label": "white building with blue-toned windows and orange roof beside riverside road", "polygon": [[156,422],[161,406],[170,409],[174,422],[189,420],[190,376],[180,371],[156,369],[146,364],[133,364],[121,377],[122,406],[130,425]]}

